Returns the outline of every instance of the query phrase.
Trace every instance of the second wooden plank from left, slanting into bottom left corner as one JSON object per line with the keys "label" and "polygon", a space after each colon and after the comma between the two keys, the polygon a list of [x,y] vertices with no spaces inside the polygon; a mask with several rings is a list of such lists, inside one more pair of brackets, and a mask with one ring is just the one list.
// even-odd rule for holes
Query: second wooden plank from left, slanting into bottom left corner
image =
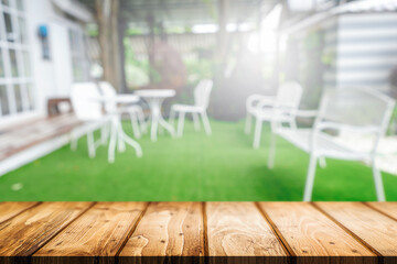
{"label": "second wooden plank from left, slanting into bottom left corner", "polygon": [[12,262],[11,256],[33,254],[90,205],[92,202],[44,202],[1,223],[1,261]]}

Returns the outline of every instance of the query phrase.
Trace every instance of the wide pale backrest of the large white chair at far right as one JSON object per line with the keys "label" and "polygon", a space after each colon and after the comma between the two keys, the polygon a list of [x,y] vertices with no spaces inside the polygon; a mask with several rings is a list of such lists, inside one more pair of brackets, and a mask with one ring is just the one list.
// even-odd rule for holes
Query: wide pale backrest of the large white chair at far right
{"label": "wide pale backrest of the large white chair at far right", "polygon": [[379,91],[367,88],[339,88],[326,90],[320,103],[316,123],[331,121],[386,132],[395,101]]}

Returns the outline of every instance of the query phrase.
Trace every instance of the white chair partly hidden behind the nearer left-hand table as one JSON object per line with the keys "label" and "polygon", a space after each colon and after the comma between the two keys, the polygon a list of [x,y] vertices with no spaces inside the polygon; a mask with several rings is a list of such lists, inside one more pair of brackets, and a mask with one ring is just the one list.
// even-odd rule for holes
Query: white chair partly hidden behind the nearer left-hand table
{"label": "white chair partly hidden behind the nearer left-hand table", "polygon": [[[99,82],[100,90],[105,97],[115,98],[117,97],[117,92],[115,88],[108,81],[100,81]],[[143,110],[138,105],[132,105],[128,107],[117,108],[117,106],[112,102],[108,102],[105,105],[105,109],[107,112],[119,112],[128,113],[131,120],[131,127],[133,136],[140,139],[142,133],[147,131],[147,123],[144,121]]]}

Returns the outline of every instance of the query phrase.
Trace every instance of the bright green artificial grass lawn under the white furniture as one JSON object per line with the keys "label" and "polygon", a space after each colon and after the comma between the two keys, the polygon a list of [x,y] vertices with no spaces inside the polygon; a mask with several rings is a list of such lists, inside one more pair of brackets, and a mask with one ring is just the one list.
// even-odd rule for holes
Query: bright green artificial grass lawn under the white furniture
{"label": "bright green artificial grass lawn under the white furniture", "polygon": [[[126,132],[131,134],[129,123]],[[86,139],[75,152],[66,145],[0,177],[0,200],[246,201],[301,200],[308,154],[278,138],[276,164],[268,169],[268,128],[260,150],[253,150],[244,123],[212,121],[213,135],[187,122],[183,138],[149,135],[139,140],[143,157],[127,145],[107,163],[107,146],[89,158]],[[397,177],[383,174],[387,200],[397,200]],[[14,185],[22,186],[12,190]],[[375,200],[369,167],[328,160],[318,167],[313,200]]]}

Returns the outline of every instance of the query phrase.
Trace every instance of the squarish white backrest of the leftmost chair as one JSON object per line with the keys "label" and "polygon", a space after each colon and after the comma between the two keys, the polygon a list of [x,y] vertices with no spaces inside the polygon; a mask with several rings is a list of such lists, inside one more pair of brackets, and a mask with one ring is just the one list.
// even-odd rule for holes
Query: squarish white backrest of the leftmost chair
{"label": "squarish white backrest of the leftmost chair", "polygon": [[100,94],[95,82],[76,82],[72,85],[72,106],[79,120],[92,121],[104,117],[101,103],[95,100],[99,96]]}

